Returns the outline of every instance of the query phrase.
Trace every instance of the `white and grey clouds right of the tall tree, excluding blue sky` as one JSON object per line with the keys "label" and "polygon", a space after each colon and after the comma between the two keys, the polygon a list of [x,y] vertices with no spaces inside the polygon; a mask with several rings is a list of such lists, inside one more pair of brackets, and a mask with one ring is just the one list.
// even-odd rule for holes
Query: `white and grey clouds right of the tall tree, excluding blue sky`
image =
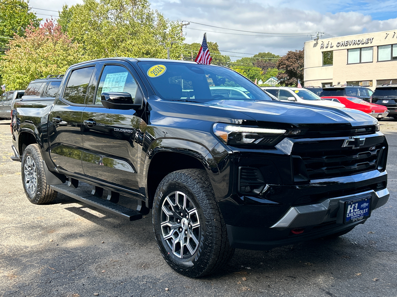
{"label": "white and grey clouds right of the tall tree, excluding blue sky", "polygon": [[[355,11],[322,13],[312,9],[319,7],[314,3],[318,2],[308,1],[301,5],[292,1],[281,1],[276,7],[273,6],[273,1],[180,0],[170,3],[167,0],[155,0],[152,1],[152,7],[164,13],[169,19],[183,19],[218,27],[256,32],[298,33],[320,31],[333,36],[343,36],[397,29],[397,19],[378,21],[373,20],[369,15]],[[327,4],[330,4],[330,8],[333,8],[338,2],[325,1],[324,6],[327,6]],[[321,7],[323,6],[321,5]],[[346,7],[347,5],[345,5]],[[208,40],[218,42],[220,49],[245,53],[271,51],[276,54],[284,54],[288,50],[302,49],[304,41],[310,40],[310,36],[305,34],[299,37],[241,36],[208,32],[239,33],[193,23],[188,27],[206,30]],[[204,31],[187,29],[186,32],[186,42],[191,43],[200,42]],[[254,33],[240,33],[254,35]]]}

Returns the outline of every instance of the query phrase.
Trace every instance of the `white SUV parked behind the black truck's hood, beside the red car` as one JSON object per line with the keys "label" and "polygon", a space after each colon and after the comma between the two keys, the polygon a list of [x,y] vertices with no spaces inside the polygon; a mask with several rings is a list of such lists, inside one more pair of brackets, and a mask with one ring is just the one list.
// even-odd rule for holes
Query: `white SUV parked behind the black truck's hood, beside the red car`
{"label": "white SUV parked behind the black truck's hood, beside the red car", "polygon": [[324,100],[318,97],[313,92],[303,88],[289,88],[289,87],[261,87],[261,89],[276,96],[279,100],[308,103],[313,105],[329,106],[342,108],[345,107],[342,103]]}

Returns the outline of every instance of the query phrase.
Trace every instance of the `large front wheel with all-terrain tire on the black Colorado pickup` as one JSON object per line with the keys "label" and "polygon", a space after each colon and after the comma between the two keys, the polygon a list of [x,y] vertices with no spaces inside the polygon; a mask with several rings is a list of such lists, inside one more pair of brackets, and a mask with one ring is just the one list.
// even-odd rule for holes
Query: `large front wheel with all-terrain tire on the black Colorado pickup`
{"label": "large front wheel with all-terrain tire on the black Colorado pickup", "polygon": [[[177,205],[174,207],[175,209],[179,209],[179,214],[184,212],[184,216],[179,216],[177,213],[174,215],[174,219],[170,219],[171,212],[169,216],[165,215],[166,212],[164,209],[167,208],[171,211],[169,201],[175,200],[172,200],[170,197],[178,197],[177,195],[179,195],[179,197],[187,197],[185,198],[185,201],[188,201],[186,202],[185,209],[178,208]],[[189,213],[188,204],[190,209],[193,209],[191,211],[193,211],[194,214]],[[168,265],[180,274],[193,278],[211,274],[224,267],[233,256],[235,249],[229,246],[226,225],[218,204],[216,203],[214,190],[212,189],[210,179],[205,170],[183,169],[174,171],[164,177],[156,190],[152,213],[154,234],[156,236],[158,248]],[[187,232],[194,231],[199,240],[197,240],[198,243],[196,246],[195,242],[191,241],[193,243],[190,246],[191,249],[188,249],[187,246],[182,246],[179,252],[180,255],[182,255],[181,257],[180,255],[175,255],[173,251],[174,245],[172,244],[171,246],[169,244],[170,241],[175,240],[178,232],[169,232],[169,234],[173,233],[175,236],[173,235],[173,238],[168,239],[168,241],[165,240],[164,238],[167,236],[164,234],[167,234],[168,230],[164,233],[165,231],[164,227],[162,227],[162,223],[164,226],[165,216],[168,217],[166,221],[173,221],[170,225],[176,225],[178,220],[181,220],[181,224],[183,222],[186,223],[185,215],[187,213],[189,213],[188,216],[190,216],[189,227],[186,225],[185,228],[179,225],[178,230],[182,231],[179,234],[187,234]],[[197,219],[195,219],[196,216]],[[190,231],[189,228],[193,228],[193,225],[199,225],[200,232],[198,232],[197,229]],[[187,242],[189,242],[191,238],[192,237],[190,237],[190,239],[188,238]],[[183,240],[181,240],[181,242],[183,242]],[[196,247],[193,254],[191,253],[193,251],[192,246]],[[186,251],[185,254],[183,253],[184,251]]]}

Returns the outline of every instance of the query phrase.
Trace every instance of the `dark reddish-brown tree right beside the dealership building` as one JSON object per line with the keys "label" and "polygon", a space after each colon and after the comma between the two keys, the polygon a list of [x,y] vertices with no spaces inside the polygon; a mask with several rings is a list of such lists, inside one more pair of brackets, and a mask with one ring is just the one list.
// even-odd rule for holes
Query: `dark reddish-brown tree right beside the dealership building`
{"label": "dark reddish-brown tree right beside the dealership building", "polygon": [[283,70],[277,74],[279,84],[286,87],[297,86],[299,79],[303,85],[303,61],[303,50],[289,51],[281,57],[277,62],[277,68]]}

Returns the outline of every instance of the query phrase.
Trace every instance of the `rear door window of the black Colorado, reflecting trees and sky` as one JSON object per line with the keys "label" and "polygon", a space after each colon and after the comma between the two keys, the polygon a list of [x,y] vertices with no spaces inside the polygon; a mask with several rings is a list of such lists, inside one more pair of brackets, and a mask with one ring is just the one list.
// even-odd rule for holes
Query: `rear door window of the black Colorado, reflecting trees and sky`
{"label": "rear door window of the black Colorado, reflecting trees and sky", "polygon": [[94,66],[73,70],[67,82],[64,99],[75,104],[84,104],[88,84],[94,71]]}

